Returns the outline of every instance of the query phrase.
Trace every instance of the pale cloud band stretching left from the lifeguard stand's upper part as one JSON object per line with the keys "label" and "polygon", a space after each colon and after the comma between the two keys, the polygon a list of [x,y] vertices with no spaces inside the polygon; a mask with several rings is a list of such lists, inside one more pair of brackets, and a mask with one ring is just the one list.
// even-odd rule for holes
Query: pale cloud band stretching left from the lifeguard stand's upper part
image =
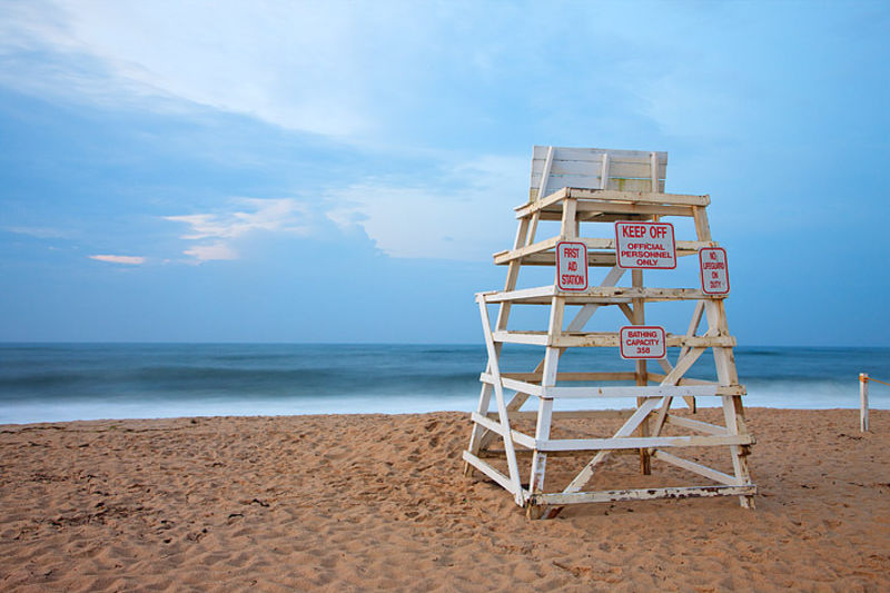
{"label": "pale cloud band stretching left from the lifeguard stand's upper part", "polygon": [[263,234],[318,236],[355,229],[398,258],[486,260],[513,235],[504,216],[527,197],[526,158],[485,155],[443,167],[428,184],[369,177],[295,198],[237,198],[227,208],[164,217],[186,226],[180,238],[191,263],[238,259]]}

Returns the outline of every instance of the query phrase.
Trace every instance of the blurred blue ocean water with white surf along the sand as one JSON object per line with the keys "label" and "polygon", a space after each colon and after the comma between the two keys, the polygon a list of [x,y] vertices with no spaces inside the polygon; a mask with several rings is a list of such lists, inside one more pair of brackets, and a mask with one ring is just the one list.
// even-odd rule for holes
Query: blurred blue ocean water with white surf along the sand
{"label": "blurred blue ocean water with white surf along the sand", "polygon": [[[541,355],[541,348],[506,346],[502,370],[532,370]],[[748,406],[856,408],[859,373],[890,379],[890,348],[748,347],[736,348],[735,357]],[[0,344],[0,424],[468,412],[486,360],[482,345]],[[560,368],[633,366],[611,350],[591,348],[570,350]],[[713,378],[713,358],[702,356],[689,376]],[[571,401],[557,402],[557,408],[629,403]],[[890,409],[890,387],[872,383],[870,404]]]}

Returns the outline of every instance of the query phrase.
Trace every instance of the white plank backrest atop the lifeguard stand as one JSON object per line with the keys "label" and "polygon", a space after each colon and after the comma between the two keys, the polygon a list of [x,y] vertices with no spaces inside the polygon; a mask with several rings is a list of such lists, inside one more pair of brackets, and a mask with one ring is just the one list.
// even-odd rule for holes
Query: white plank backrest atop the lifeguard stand
{"label": "white plank backrest atop the lifeguard stand", "polygon": [[666,174],[668,152],[536,146],[528,199],[541,199],[564,187],[664,192]]}

